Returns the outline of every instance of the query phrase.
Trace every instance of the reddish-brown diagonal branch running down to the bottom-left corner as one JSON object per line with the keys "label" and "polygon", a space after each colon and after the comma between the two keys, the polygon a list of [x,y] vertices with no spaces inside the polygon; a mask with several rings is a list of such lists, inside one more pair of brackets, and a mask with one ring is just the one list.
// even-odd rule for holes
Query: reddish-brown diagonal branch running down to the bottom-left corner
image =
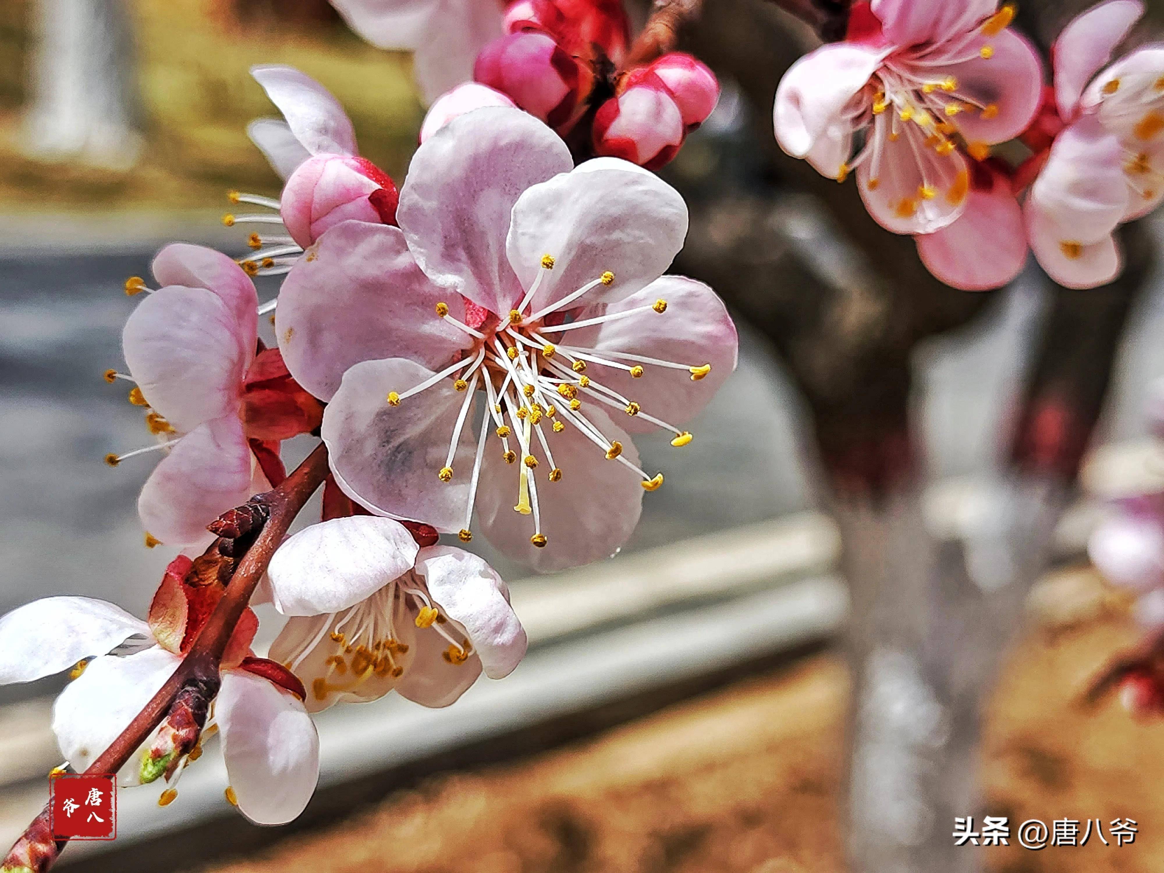
{"label": "reddish-brown diagonal branch running down to the bottom-left corner", "polygon": [[[129,725],[106,748],[86,773],[116,773],[130,755],[144,743],[150,732],[170,712],[178,694],[191,683],[203,683],[212,689],[219,686],[219,662],[234,632],[235,625],[250,603],[250,596],[267,566],[271,562],[288,528],[299,514],[307,498],[327,477],[327,448],[324,443],[288,476],[278,488],[255,497],[251,503],[269,513],[267,523],[254,544],[239,562],[211,617],[182,663],[149,703],[134,716]],[[240,510],[241,511],[241,510]],[[0,863],[0,873],[9,870],[28,868],[36,873],[48,870],[66,840],[56,840],[48,832],[48,808],[34,819],[29,829],[16,840],[12,851]],[[30,864],[29,861],[34,861]]]}

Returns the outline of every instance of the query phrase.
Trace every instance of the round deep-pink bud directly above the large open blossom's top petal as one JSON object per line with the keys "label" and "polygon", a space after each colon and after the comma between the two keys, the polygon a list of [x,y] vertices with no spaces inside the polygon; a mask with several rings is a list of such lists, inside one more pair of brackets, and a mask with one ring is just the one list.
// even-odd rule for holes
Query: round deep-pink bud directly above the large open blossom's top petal
{"label": "round deep-pink bud directly above the large open blossom's top petal", "polygon": [[532,30],[489,43],[477,55],[473,78],[508,94],[551,127],[569,121],[579,102],[577,62],[553,37]]}

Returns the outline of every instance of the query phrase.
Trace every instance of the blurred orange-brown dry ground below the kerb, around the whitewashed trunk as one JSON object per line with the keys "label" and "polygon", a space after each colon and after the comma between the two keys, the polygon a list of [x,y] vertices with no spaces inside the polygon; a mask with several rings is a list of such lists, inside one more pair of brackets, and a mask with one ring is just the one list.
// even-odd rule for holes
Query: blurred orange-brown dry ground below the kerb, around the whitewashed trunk
{"label": "blurred orange-brown dry ground below the kerb, around the whitewashed trunk", "polygon": [[[1009,659],[987,741],[991,811],[1131,817],[1135,845],[978,849],[1006,873],[1164,867],[1164,725],[1077,705],[1134,630],[1088,574],[1064,574]],[[741,682],[585,743],[442,775],[333,830],[217,873],[831,873],[845,673],[831,656]]]}

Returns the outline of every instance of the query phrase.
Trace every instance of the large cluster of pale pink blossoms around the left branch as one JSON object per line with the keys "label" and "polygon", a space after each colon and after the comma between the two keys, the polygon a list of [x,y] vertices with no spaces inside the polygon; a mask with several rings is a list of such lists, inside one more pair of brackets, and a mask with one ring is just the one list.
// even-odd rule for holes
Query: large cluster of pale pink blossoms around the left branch
{"label": "large cluster of pale pink blossoms around the left branch", "polygon": [[[526,24],[513,35],[533,34]],[[598,24],[555,38],[625,48],[625,22]],[[538,570],[617,553],[663,482],[632,434],[661,431],[681,453],[684,425],[734,369],[737,338],[710,288],[665,275],[688,214],[650,170],[612,156],[575,165],[560,125],[494,105],[430,126],[397,189],[322,85],[285,66],[253,73],[282,113],[249,127],[282,193],[230,193],[257,207],[225,219],[254,228],[251,254],[173,243],[152,281],[127,281],[140,303],[126,371],[106,372],[132,385],[155,439],[106,460],[162,455],[139,514],[148,546],[178,553],[146,620],[84,597],[0,618],[0,682],[72,667],[54,730],[71,767],[93,764],[227,596],[236,540],[217,519],[284,481],[284,441],[318,438],[322,514],[278,546],[253,601],[286,617],[270,651],[253,650],[246,609],[213,701],[183,691],[182,717],[119,773],[126,786],[164,780],[169,803],[220,734],[227,800],[276,824],[314,790],[312,714],[392,690],[445,707],[517,666],[526,636],[509,589],[462,546],[480,533]],[[676,112],[695,125],[712,104]],[[274,300],[260,304],[258,276],[281,277]]]}

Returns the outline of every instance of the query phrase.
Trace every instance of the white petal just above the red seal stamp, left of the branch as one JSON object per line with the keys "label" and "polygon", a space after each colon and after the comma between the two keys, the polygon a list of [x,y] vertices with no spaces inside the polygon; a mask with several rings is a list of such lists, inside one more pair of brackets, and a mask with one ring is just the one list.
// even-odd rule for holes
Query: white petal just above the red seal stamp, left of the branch
{"label": "white petal just above the red seal stamp, left of the branch", "polygon": [[[101,655],[65,686],[52,705],[57,745],[78,772],[109,747],[178,668],[180,658],[152,646],[123,658]],[[144,743],[118,771],[118,785],[141,785]]]}

